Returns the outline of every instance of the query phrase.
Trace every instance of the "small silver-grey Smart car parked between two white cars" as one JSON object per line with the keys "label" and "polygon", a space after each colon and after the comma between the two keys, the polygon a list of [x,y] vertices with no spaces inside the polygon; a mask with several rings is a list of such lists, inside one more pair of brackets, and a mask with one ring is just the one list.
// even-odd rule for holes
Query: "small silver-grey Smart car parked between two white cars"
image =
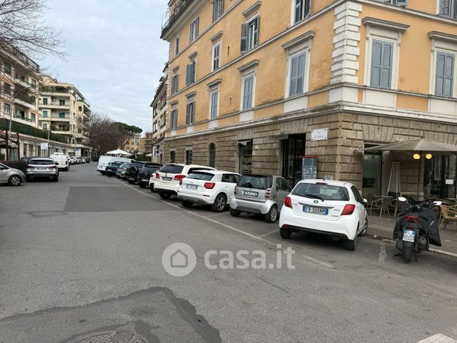
{"label": "small silver-grey Smart car parked between two white cars", "polygon": [[275,222],[290,190],[287,180],[277,175],[241,175],[230,202],[230,214],[262,214],[265,222]]}

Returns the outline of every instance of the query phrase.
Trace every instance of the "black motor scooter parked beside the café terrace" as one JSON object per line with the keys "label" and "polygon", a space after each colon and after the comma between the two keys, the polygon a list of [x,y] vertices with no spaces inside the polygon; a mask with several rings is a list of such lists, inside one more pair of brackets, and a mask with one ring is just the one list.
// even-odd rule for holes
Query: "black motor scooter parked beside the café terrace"
{"label": "black motor scooter parked beside the caf\u00e9 terrace", "polygon": [[404,205],[394,229],[395,246],[401,251],[395,256],[401,256],[409,263],[413,255],[417,261],[416,254],[429,251],[429,244],[441,246],[438,220],[432,211],[432,207],[441,202],[407,201],[404,197],[398,200]]}

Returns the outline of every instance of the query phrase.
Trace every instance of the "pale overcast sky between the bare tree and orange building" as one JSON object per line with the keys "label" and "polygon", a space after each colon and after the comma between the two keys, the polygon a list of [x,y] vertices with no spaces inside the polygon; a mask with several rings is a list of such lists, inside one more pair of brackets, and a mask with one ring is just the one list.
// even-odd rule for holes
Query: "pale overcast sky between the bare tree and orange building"
{"label": "pale overcast sky between the bare tree and orange building", "polygon": [[62,31],[67,61],[38,60],[60,82],[73,83],[92,111],[151,131],[149,107],[167,61],[160,40],[167,0],[48,0]]}

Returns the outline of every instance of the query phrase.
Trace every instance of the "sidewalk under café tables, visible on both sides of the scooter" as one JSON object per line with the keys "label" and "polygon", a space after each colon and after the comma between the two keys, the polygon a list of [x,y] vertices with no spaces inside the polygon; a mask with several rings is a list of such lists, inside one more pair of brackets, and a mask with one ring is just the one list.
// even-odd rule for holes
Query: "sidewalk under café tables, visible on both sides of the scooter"
{"label": "sidewalk under caf\u00e9 tables, visible on both sides of the scooter", "polygon": [[[378,217],[368,216],[368,232],[367,236],[375,239],[389,239],[393,240],[393,232],[395,227],[396,218],[391,217]],[[438,251],[444,253],[451,253],[457,257],[457,227],[452,223],[448,224],[446,229],[441,229],[439,234],[441,236],[442,246],[430,245],[431,251]]]}

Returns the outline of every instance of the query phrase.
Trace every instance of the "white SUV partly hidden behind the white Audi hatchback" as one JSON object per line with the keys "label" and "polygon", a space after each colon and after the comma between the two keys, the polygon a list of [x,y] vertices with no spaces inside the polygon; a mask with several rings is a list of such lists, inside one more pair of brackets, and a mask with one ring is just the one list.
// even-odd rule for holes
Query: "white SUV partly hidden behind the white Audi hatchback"
{"label": "white SUV partly hidden behind the white Audi hatchback", "polygon": [[168,163],[160,170],[155,172],[154,189],[162,199],[170,199],[172,195],[177,195],[180,187],[180,180],[195,170],[214,170],[206,165]]}

